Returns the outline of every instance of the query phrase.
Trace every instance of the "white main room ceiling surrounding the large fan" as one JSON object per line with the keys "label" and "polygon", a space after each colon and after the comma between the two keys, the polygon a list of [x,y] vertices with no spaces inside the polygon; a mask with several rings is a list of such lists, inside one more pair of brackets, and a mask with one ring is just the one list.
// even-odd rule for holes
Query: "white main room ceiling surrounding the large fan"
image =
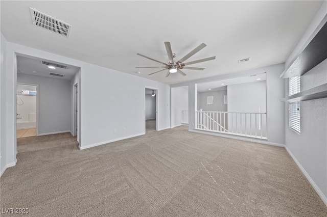
{"label": "white main room ceiling surrounding the large fan", "polygon": [[[1,32],[13,42],[121,72],[177,84],[284,63],[322,1],[1,1]],[[29,8],[72,25],[68,38],[32,24]],[[164,41],[179,60],[204,42],[187,62],[203,71],[148,75],[168,63]],[[251,58],[239,64],[238,60]],[[136,73],[141,71],[141,73]]]}

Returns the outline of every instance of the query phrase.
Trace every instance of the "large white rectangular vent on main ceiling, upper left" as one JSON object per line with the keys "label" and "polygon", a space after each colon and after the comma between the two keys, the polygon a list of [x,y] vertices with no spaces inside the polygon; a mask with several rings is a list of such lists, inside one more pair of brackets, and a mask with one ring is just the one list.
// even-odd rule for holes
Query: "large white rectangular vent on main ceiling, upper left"
{"label": "large white rectangular vent on main ceiling, upper left", "polygon": [[33,8],[30,8],[33,25],[50,30],[64,37],[69,36],[72,26],[56,18],[43,14]]}

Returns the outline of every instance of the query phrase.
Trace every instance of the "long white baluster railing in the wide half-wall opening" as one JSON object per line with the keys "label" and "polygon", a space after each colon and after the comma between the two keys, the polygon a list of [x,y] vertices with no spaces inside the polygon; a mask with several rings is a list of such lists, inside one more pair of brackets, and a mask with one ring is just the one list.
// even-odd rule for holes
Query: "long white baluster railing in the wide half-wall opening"
{"label": "long white baluster railing in the wide half-wall opening", "polygon": [[196,129],[267,139],[266,113],[197,111]]}

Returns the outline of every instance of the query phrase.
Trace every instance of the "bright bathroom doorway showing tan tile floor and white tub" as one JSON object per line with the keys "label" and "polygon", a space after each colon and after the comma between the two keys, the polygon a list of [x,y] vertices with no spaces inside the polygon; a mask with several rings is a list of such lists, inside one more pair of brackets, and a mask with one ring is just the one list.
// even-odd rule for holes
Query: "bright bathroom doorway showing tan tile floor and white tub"
{"label": "bright bathroom doorway showing tan tile floor and white tub", "polygon": [[33,137],[38,135],[38,95],[38,85],[17,83],[17,138]]}

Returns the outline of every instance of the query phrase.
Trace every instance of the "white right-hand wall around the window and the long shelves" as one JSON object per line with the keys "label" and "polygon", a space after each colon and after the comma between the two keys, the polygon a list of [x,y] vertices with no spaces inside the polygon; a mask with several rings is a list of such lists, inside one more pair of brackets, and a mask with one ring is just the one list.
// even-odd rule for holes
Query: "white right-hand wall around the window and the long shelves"
{"label": "white right-hand wall around the window and the long shelves", "polygon": [[[291,63],[296,53],[327,16],[325,1],[308,26],[305,34],[286,61]],[[327,60],[324,60],[305,75],[301,76],[301,91],[327,83]],[[285,79],[285,96],[288,96],[288,79]],[[301,101],[301,133],[288,126],[288,102],[285,103],[286,149],[293,157],[303,174],[308,178],[320,198],[327,206],[327,98]]]}

